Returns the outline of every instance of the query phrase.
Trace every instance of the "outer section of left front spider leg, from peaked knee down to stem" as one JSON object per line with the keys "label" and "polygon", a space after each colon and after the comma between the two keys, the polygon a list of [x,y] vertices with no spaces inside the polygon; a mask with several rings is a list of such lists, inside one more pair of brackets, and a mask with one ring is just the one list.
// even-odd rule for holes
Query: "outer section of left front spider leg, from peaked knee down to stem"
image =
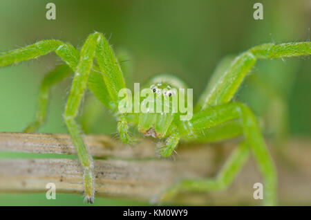
{"label": "outer section of left front spider leg, from peaked knee down to stem", "polygon": [[84,90],[86,89],[88,75],[91,71],[97,42],[100,37],[101,35],[99,33],[94,33],[93,35],[88,36],[86,42],[82,46],[79,62],[75,70],[75,77],[73,78],[73,84],[70,89],[64,113],[64,120],[67,129],[73,139],[73,143],[77,150],[77,156],[83,167],[84,196],[86,201],[89,203],[93,203],[94,200],[93,158],[88,153],[87,146],[84,145],[79,127],[77,122],[75,122],[75,118],[84,95]]}

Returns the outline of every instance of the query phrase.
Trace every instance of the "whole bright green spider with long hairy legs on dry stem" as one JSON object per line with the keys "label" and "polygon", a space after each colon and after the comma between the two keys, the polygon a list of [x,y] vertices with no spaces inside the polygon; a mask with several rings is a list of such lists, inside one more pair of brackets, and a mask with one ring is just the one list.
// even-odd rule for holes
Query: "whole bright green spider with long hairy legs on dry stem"
{"label": "whole bright green spider with long hairy legs on dry stem", "polygon": [[[93,159],[88,153],[87,146],[84,145],[75,118],[87,87],[105,107],[115,114],[117,130],[123,143],[133,143],[128,129],[129,125],[135,126],[145,136],[163,140],[159,147],[162,156],[170,156],[180,141],[209,143],[244,136],[243,142],[234,150],[215,179],[178,181],[157,197],[158,202],[166,201],[185,190],[207,192],[224,189],[232,183],[247,161],[249,153],[252,152],[265,183],[265,205],[274,205],[276,204],[276,169],[261,135],[258,122],[249,107],[231,101],[257,59],[310,55],[310,47],[310,42],[263,44],[241,53],[232,62],[220,62],[216,73],[194,107],[194,116],[190,120],[180,120],[180,113],[121,113],[118,106],[122,99],[118,93],[126,88],[122,68],[102,33],[89,35],[81,51],[77,51],[70,44],[48,39],[2,53],[0,67],[35,59],[52,51],[65,62],[46,75],[41,83],[36,120],[24,130],[26,132],[35,131],[46,120],[50,87],[71,73],[75,73],[64,111],[64,121],[83,167],[86,201],[93,203],[94,199]],[[94,58],[97,64],[93,64]],[[157,91],[159,87],[163,89],[168,86],[176,89],[187,88],[184,82],[170,75],[159,75],[151,80],[148,86],[150,85],[153,91]],[[155,93],[163,97],[169,96],[170,99],[178,95],[168,94],[170,93]],[[142,99],[139,102],[142,102]]]}

